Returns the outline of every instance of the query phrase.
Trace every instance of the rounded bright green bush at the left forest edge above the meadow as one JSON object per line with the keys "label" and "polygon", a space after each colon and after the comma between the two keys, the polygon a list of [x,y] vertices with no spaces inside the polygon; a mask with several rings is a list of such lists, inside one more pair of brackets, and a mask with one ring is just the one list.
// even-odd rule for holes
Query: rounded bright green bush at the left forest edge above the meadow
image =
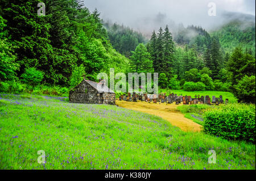
{"label": "rounded bright green bush at the left forest edge above the meadow", "polygon": [[27,85],[37,86],[40,82],[42,82],[44,78],[44,73],[42,71],[36,70],[35,68],[28,68],[21,75],[21,80]]}

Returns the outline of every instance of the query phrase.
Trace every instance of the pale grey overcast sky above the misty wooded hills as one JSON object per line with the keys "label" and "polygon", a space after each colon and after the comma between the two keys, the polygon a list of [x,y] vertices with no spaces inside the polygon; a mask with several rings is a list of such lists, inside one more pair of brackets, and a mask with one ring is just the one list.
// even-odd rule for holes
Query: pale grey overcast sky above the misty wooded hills
{"label": "pale grey overcast sky above the misty wooded hills", "polygon": [[[209,16],[208,3],[216,4],[216,16]],[[255,15],[255,0],[84,0],[89,10],[98,9],[101,18],[138,31],[152,31],[163,24],[194,24],[206,29],[222,22],[224,11]]]}

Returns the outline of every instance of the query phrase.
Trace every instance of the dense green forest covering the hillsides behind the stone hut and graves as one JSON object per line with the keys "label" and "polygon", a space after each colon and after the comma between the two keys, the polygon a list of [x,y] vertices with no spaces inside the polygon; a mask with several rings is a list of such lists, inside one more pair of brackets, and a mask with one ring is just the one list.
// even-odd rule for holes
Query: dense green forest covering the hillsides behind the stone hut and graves
{"label": "dense green forest covering the hillsides behind the stone hut and graves", "polygon": [[[255,103],[255,24],[229,23],[208,33],[202,27],[159,27],[150,40],[116,23],[104,23],[80,1],[0,2],[1,92],[42,86],[68,91],[100,72],[156,72],[166,89],[232,91]],[[236,39],[234,38],[236,37]],[[67,88],[66,88],[67,87]]]}

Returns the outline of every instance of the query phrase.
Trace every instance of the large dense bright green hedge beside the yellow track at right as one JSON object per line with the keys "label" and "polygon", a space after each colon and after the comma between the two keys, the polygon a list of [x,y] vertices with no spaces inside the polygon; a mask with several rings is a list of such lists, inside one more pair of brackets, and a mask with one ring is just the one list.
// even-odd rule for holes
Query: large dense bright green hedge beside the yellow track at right
{"label": "large dense bright green hedge beside the yellow track at right", "polygon": [[204,113],[204,132],[231,140],[255,142],[255,105],[228,104]]}

